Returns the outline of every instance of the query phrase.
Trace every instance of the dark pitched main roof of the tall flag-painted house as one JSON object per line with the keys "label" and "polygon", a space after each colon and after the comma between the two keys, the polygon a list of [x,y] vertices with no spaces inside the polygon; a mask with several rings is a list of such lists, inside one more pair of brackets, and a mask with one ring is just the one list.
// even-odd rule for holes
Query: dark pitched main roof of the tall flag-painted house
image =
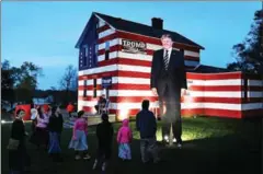
{"label": "dark pitched main roof of the tall flag-painted house", "polygon": [[[112,27],[114,27],[118,31],[140,34],[140,35],[145,35],[145,36],[156,37],[156,38],[160,38],[163,34],[170,34],[175,43],[181,43],[181,44],[197,47],[199,49],[205,49],[203,46],[194,43],[193,40],[182,36],[181,34],[179,34],[176,32],[167,31],[167,30],[158,30],[158,28],[153,28],[152,26],[149,26],[146,24],[136,23],[133,21],[127,21],[127,20],[124,20],[121,18],[114,18],[114,16],[98,13],[98,12],[93,12],[92,15],[96,15],[96,16],[101,18],[108,25],[111,25]],[[80,39],[83,39],[85,32],[87,32],[87,30],[83,31]],[[79,45],[81,43],[80,39],[78,40],[78,44],[76,47],[79,47]]]}

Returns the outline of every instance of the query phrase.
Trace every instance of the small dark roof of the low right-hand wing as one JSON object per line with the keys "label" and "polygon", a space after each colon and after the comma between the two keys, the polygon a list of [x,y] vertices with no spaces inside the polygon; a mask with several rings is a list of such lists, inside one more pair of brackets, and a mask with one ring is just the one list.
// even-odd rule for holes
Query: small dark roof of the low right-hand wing
{"label": "small dark roof of the low right-hand wing", "polygon": [[194,69],[187,70],[187,72],[216,73],[216,72],[230,72],[230,71],[228,69],[226,69],[226,68],[199,65],[199,66],[197,66]]}

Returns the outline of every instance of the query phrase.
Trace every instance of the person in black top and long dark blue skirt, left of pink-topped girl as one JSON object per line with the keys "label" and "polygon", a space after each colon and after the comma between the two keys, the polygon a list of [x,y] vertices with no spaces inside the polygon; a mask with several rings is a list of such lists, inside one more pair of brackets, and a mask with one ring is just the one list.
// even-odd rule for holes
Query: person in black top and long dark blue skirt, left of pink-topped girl
{"label": "person in black top and long dark blue skirt, left of pink-topped girl", "polygon": [[59,135],[62,131],[62,115],[60,108],[54,106],[52,108],[52,116],[49,117],[48,130],[49,130],[49,149],[48,153],[55,162],[61,162],[60,153],[61,148],[59,144]]}

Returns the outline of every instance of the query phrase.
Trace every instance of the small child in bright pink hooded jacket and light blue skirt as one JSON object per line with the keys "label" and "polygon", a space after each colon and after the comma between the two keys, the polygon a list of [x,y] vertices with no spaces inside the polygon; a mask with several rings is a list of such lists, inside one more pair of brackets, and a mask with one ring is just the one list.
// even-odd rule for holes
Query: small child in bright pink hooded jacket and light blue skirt
{"label": "small child in bright pink hooded jacket and light blue skirt", "polygon": [[118,156],[123,160],[132,160],[130,142],[133,134],[129,128],[129,120],[124,119],[123,126],[118,129],[117,142],[118,142]]}

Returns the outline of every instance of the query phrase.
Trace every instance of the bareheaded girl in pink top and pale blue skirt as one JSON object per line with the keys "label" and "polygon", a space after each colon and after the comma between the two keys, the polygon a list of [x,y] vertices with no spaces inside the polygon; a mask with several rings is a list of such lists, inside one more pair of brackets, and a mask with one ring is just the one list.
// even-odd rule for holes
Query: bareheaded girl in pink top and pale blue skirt
{"label": "bareheaded girl in pink top and pale blue skirt", "polygon": [[88,143],[87,143],[87,134],[88,134],[88,123],[83,118],[84,112],[80,111],[78,113],[78,118],[75,121],[72,139],[69,143],[70,149],[75,149],[76,160],[81,159],[80,152],[82,152],[83,159],[89,160],[91,156],[88,154]]}

